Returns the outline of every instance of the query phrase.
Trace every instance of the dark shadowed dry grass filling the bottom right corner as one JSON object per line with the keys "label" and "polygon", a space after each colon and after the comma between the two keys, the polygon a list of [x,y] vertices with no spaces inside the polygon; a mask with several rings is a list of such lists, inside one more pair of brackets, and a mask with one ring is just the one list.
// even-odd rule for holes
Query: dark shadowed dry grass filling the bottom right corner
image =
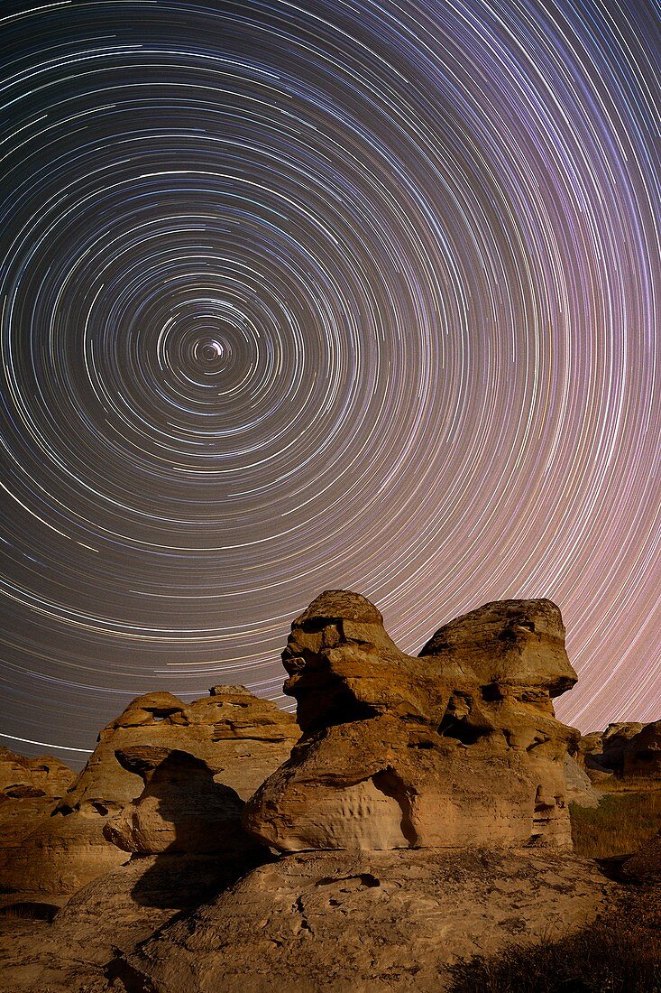
{"label": "dark shadowed dry grass filling the bottom right corner", "polygon": [[562,941],[455,966],[452,993],[661,993],[661,891],[618,905]]}

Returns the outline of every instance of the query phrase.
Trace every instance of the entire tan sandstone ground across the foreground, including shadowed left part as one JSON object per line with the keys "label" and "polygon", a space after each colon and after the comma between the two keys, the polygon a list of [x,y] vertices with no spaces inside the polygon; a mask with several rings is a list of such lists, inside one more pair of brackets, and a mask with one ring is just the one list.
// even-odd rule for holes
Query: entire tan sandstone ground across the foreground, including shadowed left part
{"label": "entire tan sandstone ground across the foreground, including shadowed left part", "polygon": [[233,885],[231,871],[132,860],[4,968],[0,941],[0,991],[443,993],[460,959],[571,932],[616,889],[594,863],[549,848],[308,852]]}

